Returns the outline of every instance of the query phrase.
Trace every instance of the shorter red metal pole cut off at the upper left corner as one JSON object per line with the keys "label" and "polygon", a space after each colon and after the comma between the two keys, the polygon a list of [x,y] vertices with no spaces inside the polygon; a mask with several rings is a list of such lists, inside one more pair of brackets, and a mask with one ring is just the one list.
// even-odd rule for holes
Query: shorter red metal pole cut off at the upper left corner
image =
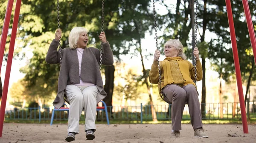
{"label": "shorter red metal pole cut off at the upper left corner", "polygon": [[11,15],[12,15],[13,1],[14,0],[8,0],[6,15],[3,22],[3,32],[2,32],[2,37],[0,41],[0,73],[1,73],[2,64],[3,64],[3,54],[4,54],[5,45],[6,45],[6,38],[7,38],[9,24],[10,24]]}

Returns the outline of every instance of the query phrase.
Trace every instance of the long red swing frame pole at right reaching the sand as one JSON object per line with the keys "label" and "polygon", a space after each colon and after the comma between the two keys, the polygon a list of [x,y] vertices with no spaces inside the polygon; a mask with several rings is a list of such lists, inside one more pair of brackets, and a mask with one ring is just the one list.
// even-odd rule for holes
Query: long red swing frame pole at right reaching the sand
{"label": "long red swing frame pole at right reaching the sand", "polygon": [[233,58],[234,58],[234,64],[235,64],[235,70],[236,70],[236,82],[237,82],[237,87],[238,87],[243,130],[244,130],[245,134],[248,134],[248,125],[247,125],[247,118],[246,118],[245,105],[244,105],[244,93],[243,93],[243,87],[242,87],[239,56],[238,56],[238,50],[237,50],[237,45],[236,45],[236,33],[235,33],[235,26],[234,26],[234,21],[233,21],[233,14],[232,14],[232,7],[231,7],[230,0],[226,0],[226,7],[227,7],[228,24],[230,27]]}

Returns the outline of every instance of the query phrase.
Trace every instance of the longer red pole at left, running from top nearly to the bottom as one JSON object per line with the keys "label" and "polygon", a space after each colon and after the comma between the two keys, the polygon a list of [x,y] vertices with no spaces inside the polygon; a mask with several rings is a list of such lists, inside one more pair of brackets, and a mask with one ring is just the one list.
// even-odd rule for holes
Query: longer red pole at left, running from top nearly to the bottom
{"label": "longer red pole at left, running from top nearly to the bottom", "polygon": [[2,95],[1,109],[0,109],[0,137],[2,137],[2,133],[3,133],[3,121],[4,121],[7,93],[8,93],[8,87],[9,87],[9,79],[10,79],[10,73],[11,73],[11,67],[12,67],[13,51],[15,46],[16,34],[17,34],[17,26],[18,26],[18,21],[20,16],[20,5],[21,5],[21,0],[16,0],[15,14],[14,14],[13,23],[12,23],[12,35],[11,35],[10,48],[9,48],[9,53],[7,58],[6,75],[4,78],[3,95]]}

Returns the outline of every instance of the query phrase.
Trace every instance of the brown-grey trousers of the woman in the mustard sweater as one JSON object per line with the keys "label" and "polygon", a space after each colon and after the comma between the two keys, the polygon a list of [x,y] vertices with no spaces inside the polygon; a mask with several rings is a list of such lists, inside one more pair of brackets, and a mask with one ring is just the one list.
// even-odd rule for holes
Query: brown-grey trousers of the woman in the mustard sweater
{"label": "brown-grey trousers of the woman in the mustard sweater", "polygon": [[181,119],[185,104],[189,106],[189,115],[193,129],[201,128],[202,115],[198,92],[193,84],[180,87],[176,84],[170,84],[163,88],[165,98],[163,99],[172,104],[172,130],[181,130]]}

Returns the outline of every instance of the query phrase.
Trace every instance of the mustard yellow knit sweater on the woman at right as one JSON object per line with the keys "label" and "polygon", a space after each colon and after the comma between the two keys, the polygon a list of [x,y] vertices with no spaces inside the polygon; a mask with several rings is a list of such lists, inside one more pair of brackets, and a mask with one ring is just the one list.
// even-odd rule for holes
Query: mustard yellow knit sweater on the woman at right
{"label": "mustard yellow knit sweater on the woman at right", "polygon": [[[161,72],[161,89],[168,84],[177,84],[180,87],[187,84],[195,85],[195,67],[191,62],[183,60],[181,57],[167,57],[163,61],[160,61]],[[200,60],[196,61],[197,81],[202,80],[203,70]],[[159,71],[157,61],[154,61],[151,70],[149,71],[149,82],[152,84],[158,84],[159,94],[161,92],[159,82]],[[195,85],[196,87],[196,85]]]}

